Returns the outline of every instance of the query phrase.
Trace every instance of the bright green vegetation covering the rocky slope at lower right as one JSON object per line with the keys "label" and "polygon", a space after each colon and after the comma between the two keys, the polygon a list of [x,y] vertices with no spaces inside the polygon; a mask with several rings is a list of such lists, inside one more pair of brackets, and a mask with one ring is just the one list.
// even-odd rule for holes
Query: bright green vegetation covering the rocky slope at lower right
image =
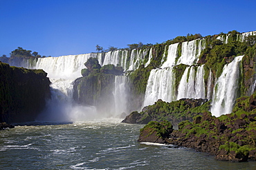
{"label": "bright green vegetation covering the rocky slope at lower right", "polygon": [[[248,156],[249,151],[255,150],[256,145],[256,93],[252,96],[237,98],[232,114],[219,118],[203,115],[179,124],[179,131],[185,133],[186,138],[207,136],[206,141],[213,137],[219,141],[219,150],[224,149],[227,155],[231,151],[239,156]],[[200,120],[199,120],[200,119]],[[196,121],[195,120],[199,120]]]}

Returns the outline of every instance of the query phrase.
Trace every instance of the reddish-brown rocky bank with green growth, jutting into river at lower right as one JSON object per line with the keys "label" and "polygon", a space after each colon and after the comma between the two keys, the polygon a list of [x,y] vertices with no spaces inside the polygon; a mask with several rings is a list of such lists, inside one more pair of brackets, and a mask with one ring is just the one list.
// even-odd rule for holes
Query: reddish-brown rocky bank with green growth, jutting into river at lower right
{"label": "reddish-brown rocky bank with green growth, jutting into river at lower right", "polygon": [[216,118],[205,112],[203,115],[195,116],[192,122],[185,120],[179,123],[179,129],[168,129],[170,134],[165,136],[156,135],[157,130],[146,125],[147,128],[141,129],[138,141],[190,147],[196,151],[210,153],[217,160],[256,160],[255,98],[256,94],[237,99],[232,114]]}

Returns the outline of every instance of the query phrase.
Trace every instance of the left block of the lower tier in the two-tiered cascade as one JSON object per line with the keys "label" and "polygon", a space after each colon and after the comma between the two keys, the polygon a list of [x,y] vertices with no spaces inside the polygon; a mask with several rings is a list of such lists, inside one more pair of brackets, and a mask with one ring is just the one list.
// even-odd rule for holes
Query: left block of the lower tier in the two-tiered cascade
{"label": "left block of the lower tier in the two-tiered cascade", "polygon": [[145,92],[143,106],[152,105],[156,100],[162,99],[167,102],[176,100],[172,67],[151,70]]}

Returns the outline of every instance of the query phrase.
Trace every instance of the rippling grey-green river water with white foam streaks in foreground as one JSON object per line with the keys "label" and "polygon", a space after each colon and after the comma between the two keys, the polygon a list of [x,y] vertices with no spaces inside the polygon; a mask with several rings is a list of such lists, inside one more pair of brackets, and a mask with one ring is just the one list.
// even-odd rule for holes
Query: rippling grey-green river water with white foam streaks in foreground
{"label": "rippling grey-green river water with white foam streaks in foreground", "polygon": [[256,169],[194,149],[137,142],[143,125],[98,120],[0,131],[0,169]]}

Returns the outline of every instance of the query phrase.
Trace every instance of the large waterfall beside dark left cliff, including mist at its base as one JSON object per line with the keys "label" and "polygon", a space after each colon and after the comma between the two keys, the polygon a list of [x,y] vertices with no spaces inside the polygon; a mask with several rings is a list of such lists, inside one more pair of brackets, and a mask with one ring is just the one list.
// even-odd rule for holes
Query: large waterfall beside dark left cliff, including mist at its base
{"label": "large waterfall beside dark left cliff, including mist at its base", "polygon": [[97,58],[98,54],[80,54],[38,59],[34,69],[43,69],[48,73],[51,84],[51,100],[47,102],[47,109],[38,120],[41,121],[78,121],[95,118],[95,107],[84,107],[73,103],[73,81],[81,76],[84,63],[90,58]]}

